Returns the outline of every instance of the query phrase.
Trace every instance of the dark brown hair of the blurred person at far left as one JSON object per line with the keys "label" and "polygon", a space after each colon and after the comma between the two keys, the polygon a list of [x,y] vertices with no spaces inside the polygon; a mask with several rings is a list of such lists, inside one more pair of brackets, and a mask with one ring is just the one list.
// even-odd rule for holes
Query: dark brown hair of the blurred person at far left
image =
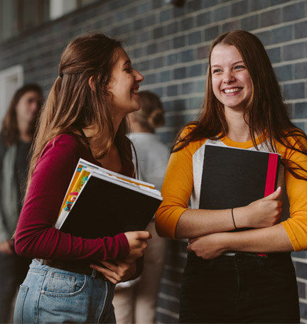
{"label": "dark brown hair of the blurred person at far left", "polygon": [[[15,93],[13,98],[11,99],[11,103],[9,105],[9,109],[6,112],[6,115],[4,116],[4,121],[2,123],[1,128],[1,137],[3,137],[4,142],[6,146],[11,146],[13,144],[16,144],[19,138],[19,129],[18,129],[18,123],[17,123],[17,114],[16,114],[16,106],[23,97],[23,95],[26,95],[27,92],[37,92],[40,97],[43,97],[43,90],[41,90],[41,87],[39,85],[36,85],[35,83],[29,83],[27,85],[23,85],[23,87],[19,88]],[[41,102],[39,102],[38,107],[38,114],[41,109]],[[28,129],[28,134],[33,138],[34,132],[35,132],[35,126],[36,126],[36,118],[33,119],[30,129]]]}

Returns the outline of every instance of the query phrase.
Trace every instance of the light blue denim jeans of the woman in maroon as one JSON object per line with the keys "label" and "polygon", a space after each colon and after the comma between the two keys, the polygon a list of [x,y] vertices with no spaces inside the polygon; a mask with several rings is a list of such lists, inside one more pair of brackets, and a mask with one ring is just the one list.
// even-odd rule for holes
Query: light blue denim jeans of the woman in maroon
{"label": "light blue denim jeans of the woman in maroon", "polygon": [[116,323],[114,284],[33,259],[16,300],[14,323]]}

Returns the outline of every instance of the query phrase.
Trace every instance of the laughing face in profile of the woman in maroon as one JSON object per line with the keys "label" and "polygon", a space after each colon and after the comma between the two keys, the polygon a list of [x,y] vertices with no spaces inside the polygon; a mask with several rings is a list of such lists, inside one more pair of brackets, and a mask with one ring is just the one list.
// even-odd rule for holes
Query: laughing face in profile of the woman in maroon
{"label": "laughing face in profile of the woman in maroon", "polygon": [[108,90],[113,95],[115,114],[123,117],[140,109],[139,83],[144,77],[132,68],[131,61],[122,48],[117,49],[115,55],[117,62],[112,68]]}

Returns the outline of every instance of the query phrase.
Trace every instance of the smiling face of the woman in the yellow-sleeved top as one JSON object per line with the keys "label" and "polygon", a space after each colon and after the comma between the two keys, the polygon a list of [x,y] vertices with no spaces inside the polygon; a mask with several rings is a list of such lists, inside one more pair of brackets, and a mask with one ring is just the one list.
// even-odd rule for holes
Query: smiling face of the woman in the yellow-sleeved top
{"label": "smiling face of the woman in the yellow-sleeved top", "polygon": [[211,53],[212,90],[225,109],[244,111],[252,96],[252,79],[239,50],[218,44]]}

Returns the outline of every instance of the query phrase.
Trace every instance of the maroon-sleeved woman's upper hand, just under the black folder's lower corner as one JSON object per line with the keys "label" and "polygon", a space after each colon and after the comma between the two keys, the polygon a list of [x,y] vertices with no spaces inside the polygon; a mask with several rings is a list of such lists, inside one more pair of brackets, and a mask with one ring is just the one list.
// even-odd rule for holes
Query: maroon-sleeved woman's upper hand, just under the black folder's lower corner
{"label": "maroon-sleeved woman's upper hand, just under the black folder's lower corner", "polygon": [[147,248],[147,239],[151,239],[151,234],[147,231],[125,232],[129,242],[129,254],[126,261],[134,261],[144,255]]}

